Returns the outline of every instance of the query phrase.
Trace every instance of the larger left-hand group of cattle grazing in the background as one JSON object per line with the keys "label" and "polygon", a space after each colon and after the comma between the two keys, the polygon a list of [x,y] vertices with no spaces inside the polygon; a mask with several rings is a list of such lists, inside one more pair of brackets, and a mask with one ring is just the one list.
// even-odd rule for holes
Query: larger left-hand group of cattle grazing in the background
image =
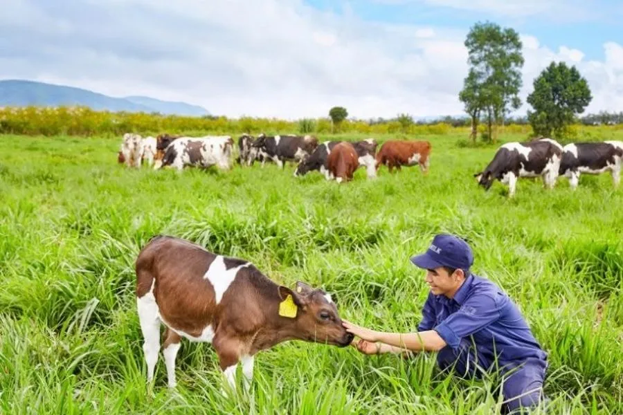
{"label": "larger left-hand group of cattle grazing in the background", "polygon": [[[390,172],[396,167],[419,165],[422,172],[428,172],[431,143],[428,141],[389,140],[377,152],[373,138],[361,141],[318,142],[315,136],[266,136],[253,137],[243,134],[238,138],[235,160],[241,166],[251,166],[255,160],[262,163],[276,163],[283,168],[285,163],[297,163],[294,176],[303,176],[317,170],[327,180],[338,183],[352,181],[359,167],[365,167],[368,178],[377,175],[381,165]],[[170,136],[161,134],[145,137],[125,133],[119,163],[128,167],[141,167],[143,160],[154,169],[171,166],[181,171],[186,166],[207,168],[217,166],[228,170],[233,165],[234,142],[231,136]]]}

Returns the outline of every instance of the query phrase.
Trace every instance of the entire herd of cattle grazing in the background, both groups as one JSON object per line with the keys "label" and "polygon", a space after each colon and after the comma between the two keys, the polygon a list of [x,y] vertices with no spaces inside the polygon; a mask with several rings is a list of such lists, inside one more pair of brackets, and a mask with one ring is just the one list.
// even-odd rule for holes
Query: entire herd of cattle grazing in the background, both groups
{"label": "entire herd of cattle grazing in the background, both groups", "polygon": [[[234,152],[237,156],[234,158]],[[231,169],[235,160],[241,166],[251,166],[255,160],[276,163],[297,163],[294,176],[318,171],[327,180],[351,181],[359,167],[365,167],[368,178],[377,176],[381,165],[389,172],[401,166],[419,165],[426,174],[431,158],[431,143],[424,140],[388,140],[377,152],[373,138],[361,141],[318,142],[315,136],[282,135],[257,137],[243,134],[237,147],[231,136],[170,136],[161,134],[145,137],[134,133],[123,136],[119,163],[141,167],[143,160],[154,169],[166,166],[182,170],[186,166]],[[573,190],[581,174],[611,172],[615,187],[620,183],[623,159],[622,141],[575,142],[564,147],[551,138],[536,138],[529,142],[507,142],[496,151],[482,172],[474,174],[482,187],[489,190],[494,180],[509,187],[509,196],[516,191],[518,178],[543,178],[551,189],[557,178],[569,179]]]}

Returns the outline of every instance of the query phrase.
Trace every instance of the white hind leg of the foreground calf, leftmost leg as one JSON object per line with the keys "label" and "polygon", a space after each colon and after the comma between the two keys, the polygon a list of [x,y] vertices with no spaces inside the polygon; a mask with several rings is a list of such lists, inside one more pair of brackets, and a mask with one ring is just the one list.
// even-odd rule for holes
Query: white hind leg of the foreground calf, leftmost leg
{"label": "white hind leg of the foreground calf, leftmost leg", "polygon": [[158,304],[154,298],[154,293],[143,295],[136,299],[136,309],[138,311],[138,320],[141,323],[141,332],[143,333],[143,352],[145,353],[145,362],[147,362],[147,382],[154,379],[154,369],[158,362],[158,353],[160,351],[160,318]]}

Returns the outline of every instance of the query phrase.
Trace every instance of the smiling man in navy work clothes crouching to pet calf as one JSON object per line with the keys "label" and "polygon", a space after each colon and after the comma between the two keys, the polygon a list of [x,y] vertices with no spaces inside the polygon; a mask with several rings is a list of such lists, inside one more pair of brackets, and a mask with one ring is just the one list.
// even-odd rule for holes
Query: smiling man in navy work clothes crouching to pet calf
{"label": "smiling man in navy work clothes crouching to pet calf", "polygon": [[473,275],[473,253],[462,239],[438,234],[422,255],[410,258],[427,270],[431,287],[417,333],[383,333],[344,321],[365,354],[438,351],[441,369],[480,378],[500,370],[507,411],[538,405],[548,355],[517,306],[496,284]]}

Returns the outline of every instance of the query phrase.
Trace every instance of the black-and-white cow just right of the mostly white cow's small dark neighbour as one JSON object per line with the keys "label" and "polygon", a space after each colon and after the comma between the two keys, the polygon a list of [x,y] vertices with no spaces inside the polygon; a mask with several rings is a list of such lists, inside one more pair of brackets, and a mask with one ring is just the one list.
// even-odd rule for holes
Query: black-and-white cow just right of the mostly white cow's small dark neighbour
{"label": "black-and-white cow just right of the mostly white cow's small dark neighbour", "polygon": [[283,168],[285,161],[300,162],[318,147],[318,138],[314,136],[265,136],[263,133],[253,141],[249,165],[262,156],[262,167],[267,160],[273,160]]}

